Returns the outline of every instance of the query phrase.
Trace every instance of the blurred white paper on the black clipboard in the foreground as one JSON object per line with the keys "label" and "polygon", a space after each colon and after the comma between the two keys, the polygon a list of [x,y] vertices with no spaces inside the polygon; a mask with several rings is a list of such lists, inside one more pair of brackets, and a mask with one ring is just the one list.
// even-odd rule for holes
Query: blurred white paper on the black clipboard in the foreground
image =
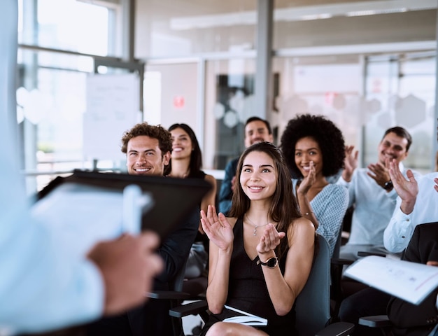
{"label": "blurred white paper on the black clipboard in the foreground", "polygon": [[[97,241],[140,232],[139,214],[133,205],[139,196],[126,190],[129,192],[65,183],[36,202],[31,216],[56,231],[64,244],[71,244],[71,251],[84,255]],[[153,198],[148,193],[142,197],[141,207],[147,211]]]}

